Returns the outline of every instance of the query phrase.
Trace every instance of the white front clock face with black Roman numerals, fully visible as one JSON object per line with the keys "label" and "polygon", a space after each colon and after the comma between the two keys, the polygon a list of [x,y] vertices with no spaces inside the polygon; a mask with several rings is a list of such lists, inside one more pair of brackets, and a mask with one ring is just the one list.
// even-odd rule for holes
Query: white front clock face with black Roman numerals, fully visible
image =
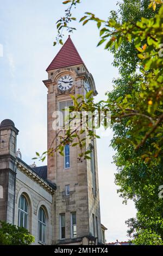
{"label": "white front clock face with black Roman numerals, fully visible", "polygon": [[70,75],[61,76],[58,80],[58,89],[62,92],[70,90],[73,86],[73,79]]}

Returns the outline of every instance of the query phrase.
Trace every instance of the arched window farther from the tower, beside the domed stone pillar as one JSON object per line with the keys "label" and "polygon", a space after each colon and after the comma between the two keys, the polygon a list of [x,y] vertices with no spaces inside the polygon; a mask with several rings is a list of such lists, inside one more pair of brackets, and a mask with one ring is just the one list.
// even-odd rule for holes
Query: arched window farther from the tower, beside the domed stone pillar
{"label": "arched window farther from the tower, beside the domed stone pillar", "polygon": [[28,229],[28,203],[23,194],[18,202],[18,226]]}

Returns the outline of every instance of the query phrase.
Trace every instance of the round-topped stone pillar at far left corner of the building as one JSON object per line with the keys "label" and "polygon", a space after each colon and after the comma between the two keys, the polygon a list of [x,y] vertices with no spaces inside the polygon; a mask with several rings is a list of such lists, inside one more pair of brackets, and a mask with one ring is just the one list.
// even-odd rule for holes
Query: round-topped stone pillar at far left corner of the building
{"label": "round-topped stone pillar at far left corner of the building", "polygon": [[0,125],[0,220],[14,224],[16,137],[14,123],[5,119]]}

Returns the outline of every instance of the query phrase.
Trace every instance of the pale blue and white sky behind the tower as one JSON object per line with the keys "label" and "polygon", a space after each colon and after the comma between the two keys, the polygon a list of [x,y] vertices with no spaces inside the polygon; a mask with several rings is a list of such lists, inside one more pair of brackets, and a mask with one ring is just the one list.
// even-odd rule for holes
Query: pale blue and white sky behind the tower
{"label": "pale blue and white sky behind the tower", "polygon": [[[60,45],[53,47],[53,41],[57,33],[55,22],[64,14],[65,5],[61,2],[0,0],[0,122],[7,118],[14,121],[20,130],[17,148],[28,164],[33,163],[35,151],[42,152],[47,147],[47,89],[42,80],[47,79],[45,70],[60,49]],[[116,0],[83,0],[74,16],[79,20],[85,11],[91,11],[104,19],[117,9],[116,3]],[[112,89],[112,79],[118,77],[118,70],[111,65],[113,57],[103,46],[96,47],[99,35],[94,23],[85,27],[77,23],[76,27],[71,38],[95,79],[96,100],[105,99],[104,93]],[[116,192],[111,138],[109,130],[97,141],[101,221],[108,228],[108,242],[128,239],[124,222],[136,212],[133,202],[123,205]]]}

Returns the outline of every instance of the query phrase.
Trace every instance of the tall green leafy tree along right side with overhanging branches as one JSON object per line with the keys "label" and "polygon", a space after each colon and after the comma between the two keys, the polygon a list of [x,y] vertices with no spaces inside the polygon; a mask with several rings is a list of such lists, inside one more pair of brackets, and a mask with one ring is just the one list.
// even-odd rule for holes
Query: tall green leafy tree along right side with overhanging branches
{"label": "tall green leafy tree along right side with overhanging branches", "polygon": [[[80,1],[71,3],[65,17],[57,22],[57,41],[62,44],[62,31],[69,26],[72,7]],[[158,5],[156,5],[158,4]],[[147,8],[149,7],[149,8]],[[153,9],[152,9],[153,7]],[[130,10],[130,11],[128,11]],[[99,19],[92,13],[85,13],[80,19],[85,25],[89,21],[97,23],[105,49],[114,54],[114,65],[120,71],[120,78],[114,80],[114,90],[106,93],[108,100],[93,103],[91,93],[73,97],[71,111],[111,111],[111,125],[114,138],[111,145],[116,149],[115,163],[118,168],[116,184],[120,186],[120,196],[133,199],[137,218],[129,220],[129,234],[137,239],[137,244],[145,243],[145,237],[155,244],[163,238],[162,200],[158,197],[158,187],[162,184],[162,1],[124,0],[120,11],[111,12],[108,20]],[[55,45],[56,42],[54,42]],[[80,134],[83,131],[80,131]],[[80,139],[77,129],[66,131],[57,149],[63,152],[63,145],[73,139],[81,148],[80,157],[89,158],[89,151],[83,152],[84,138]],[[87,136],[97,137],[93,130],[87,129]],[[45,153],[47,154],[47,153]],[[44,154],[44,155],[45,155]],[[41,159],[45,156],[41,156]],[[144,225],[146,223],[146,225]],[[156,237],[156,239],[154,239]],[[150,243],[150,242],[149,242]]]}

